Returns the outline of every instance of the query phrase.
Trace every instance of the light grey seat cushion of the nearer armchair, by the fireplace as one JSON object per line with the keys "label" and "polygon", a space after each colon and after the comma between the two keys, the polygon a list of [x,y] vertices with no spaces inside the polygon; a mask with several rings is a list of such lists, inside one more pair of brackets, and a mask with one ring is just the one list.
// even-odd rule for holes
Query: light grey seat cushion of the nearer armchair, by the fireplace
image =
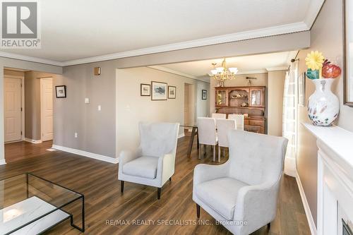
{"label": "light grey seat cushion of the nearer armchair, by the fireplace", "polygon": [[248,184],[233,178],[213,179],[196,186],[196,195],[225,219],[233,220],[237,195],[241,187]]}

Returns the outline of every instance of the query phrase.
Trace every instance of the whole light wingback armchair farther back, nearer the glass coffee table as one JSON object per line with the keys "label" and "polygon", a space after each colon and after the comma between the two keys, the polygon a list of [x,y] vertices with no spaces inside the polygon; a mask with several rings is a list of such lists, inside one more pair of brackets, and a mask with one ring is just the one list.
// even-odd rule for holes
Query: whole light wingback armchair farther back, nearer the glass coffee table
{"label": "whole light wingback armchair farther back, nearer the glass coffee table", "polygon": [[160,199],[162,186],[174,174],[179,123],[139,123],[140,146],[135,152],[122,151],[118,179],[121,193],[124,181],[157,187]]}

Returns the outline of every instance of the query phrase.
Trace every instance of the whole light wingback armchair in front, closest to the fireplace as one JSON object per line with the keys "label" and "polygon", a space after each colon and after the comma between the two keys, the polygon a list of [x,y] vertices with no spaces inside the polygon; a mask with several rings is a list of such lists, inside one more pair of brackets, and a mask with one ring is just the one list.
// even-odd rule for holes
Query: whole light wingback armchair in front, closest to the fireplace
{"label": "whole light wingback armchair in front, closest to the fireplace", "polygon": [[236,235],[251,234],[275,219],[288,140],[231,131],[225,164],[198,164],[193,200]]}

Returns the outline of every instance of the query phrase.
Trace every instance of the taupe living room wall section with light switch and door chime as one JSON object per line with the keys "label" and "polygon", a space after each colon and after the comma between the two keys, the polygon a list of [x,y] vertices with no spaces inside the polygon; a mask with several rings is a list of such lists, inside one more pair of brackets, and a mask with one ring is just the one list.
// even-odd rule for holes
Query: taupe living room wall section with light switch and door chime
{"label": "taupe living room wall section with light switch and door chime", "polygon": [[54,145],[115,157],[115,68],[114,61],[64,67],[54,80],[66,85],[66,98],[54,99]]}

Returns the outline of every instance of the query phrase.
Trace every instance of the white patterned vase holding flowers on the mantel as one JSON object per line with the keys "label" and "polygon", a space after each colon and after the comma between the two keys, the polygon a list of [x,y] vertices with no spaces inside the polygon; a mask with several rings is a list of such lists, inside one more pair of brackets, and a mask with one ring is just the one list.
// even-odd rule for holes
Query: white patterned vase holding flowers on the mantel
{"label": "white patterned vase holding flowers on the mantel", "polygon": [[321,78],[312,80],[316,90],[309,97],[309,119],[314,126],[332,126],[340,111],[340,102],[331,91],[331,85],[335,79]]}

